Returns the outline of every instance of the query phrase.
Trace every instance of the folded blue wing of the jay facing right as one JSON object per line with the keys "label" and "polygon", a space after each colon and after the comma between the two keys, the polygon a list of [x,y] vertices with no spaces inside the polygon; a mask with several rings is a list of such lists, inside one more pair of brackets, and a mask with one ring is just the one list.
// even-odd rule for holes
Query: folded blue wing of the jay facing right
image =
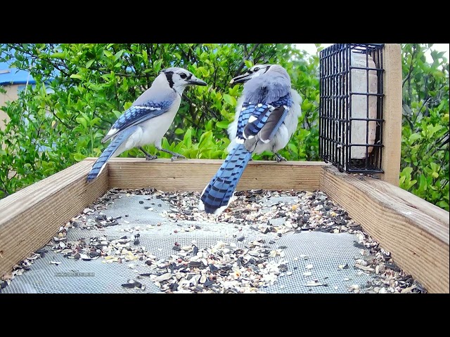
{"label": "folded blue wing of the jay facing right", "polygon": [[117,136],[122,131],[134,126],[136,124],[142,123],[153,117],[160,116],[165,112],[169,111],[171,101],[153,102],[148,101],[144,104],[133,105],[126,110],[122,116],[115,121],[113,126],[111,126],[108,134],[101,141],[105,143],[108,139]]}

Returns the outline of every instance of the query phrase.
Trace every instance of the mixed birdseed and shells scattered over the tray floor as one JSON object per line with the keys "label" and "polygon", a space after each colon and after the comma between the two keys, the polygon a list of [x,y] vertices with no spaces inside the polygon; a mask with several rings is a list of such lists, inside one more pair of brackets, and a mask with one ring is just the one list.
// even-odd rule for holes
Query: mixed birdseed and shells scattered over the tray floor
{"label": "mixed birdseed and shells scattered over the tray floor", "polygon": [[[181,235],[202,229],[198,223],[221,223],[233,226],[238,246],[234,242],[218,240],[215,244],[200,246],[197,242],[179,244],[174,242],[172,253],[161,256],[160,249],[148,251],[141,245],[142,232],[162,226],[156,225],[124,228],[124,235],[111,239],[106,235],[68,239],[68,231],[77,228],[83,231],[101,231],[105,227],[117,226],[121,220],[129,224],[130,214],[107,216],[103,211],[114,204],[115,200],[129,196],[149,196],[139,201],[148,211],[160,209],[160,215],[170,223],[179,223],[179,229],[173,234]],[[286,199],[289,197],[290,199]],[[328,232],[354,234],[354,246],[359,249],[359,256],[354,257],[354,264],[335,265],[336,270],[353,268],[357,275],[370,276],[365,286],[349,284],[351,293],[425,293],[426,290],[411,275],[406,275],[390,256],[389,251],[380,247],[378,242],[368,235],[361,225],[349,217],[347,211],[340,208],[321,191],[267,191],[249,190],[236,192],[229,208],[219,216],[207,214],[198,209],[200,194],[198,192],[163,192],[152,188],[139,190],[108,190],[94,204],[61,226],[53,239],[44,248],[31,254],[29,258],[13,267],[11,273],[1,277],[0,291],[20,277],[30,272],[35,260],[49,251],[59,253],[59,260],[51,260],[52,267],[58,268],[64,258],[75,260],[101,259],[102,263],[126,263],[136,272],[136,277],[117,280],[124,289],[146,291],[144,280],[158,287],[164,293],[264,293],[268,287],[279,284],[281,277],[293,277],[293,263],[286,257],[289,246],[276,245],[277,239],[284,235],[302,232]],[[289,200],[289,201],[285,201]],[[145,201],[145,202],[144,202]],[[169,207],[162,209],[162,203]],[[193,224],[193,223],[196,224]],[[261,236],[248,240],[244,228],[255,231]],[[241,234],[242,233],[242,234]],[[264,237],[273,234],[271,239]],[[86,235],[87,237],[87,235]],[[314,277],[314,263],[309,256],[299,255],[293,258],[298,262],[304,260],[304,270],[299,270],[304,277],[304,286],[308,288],[328,287],[328,277]],[[344,261],[343,261],[344,262]],[[145,272],[139,272],[145,268]],[[343,278],[352,282],[349,277]],[[279,286],[285,289],[285,285]]]}

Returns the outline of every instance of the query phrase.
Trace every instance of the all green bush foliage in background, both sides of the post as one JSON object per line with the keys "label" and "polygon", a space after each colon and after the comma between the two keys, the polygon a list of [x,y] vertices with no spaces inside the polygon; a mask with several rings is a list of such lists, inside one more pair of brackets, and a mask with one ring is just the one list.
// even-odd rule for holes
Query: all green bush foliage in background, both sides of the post
{"label": "all green bush foliage in background, both sides of the post", "polygon": [[[402,45],[400,186],[448,211],[449,63],[437,52],[432,64],[426,62],[431,46]],[[2,108],[11,121],[0,131],[0,198],[86,157],[98,157],[111,124],[170,66],[186,67],[209,86],[184,93],[163,147],[187,158],[224,159],[226,128],[242,91],[242,86],[229,86],[230,79],[254,64],[278,63],[303,98],[297,132],[279,153],[289,160],[320,160],[319,58],[293,45],[0,44],[2,52],[15,59],[13,65],[30,71],[37,84]],[[156,152],[153,146],[145,148]],[[120,157],[143,154],[132,149]]]}

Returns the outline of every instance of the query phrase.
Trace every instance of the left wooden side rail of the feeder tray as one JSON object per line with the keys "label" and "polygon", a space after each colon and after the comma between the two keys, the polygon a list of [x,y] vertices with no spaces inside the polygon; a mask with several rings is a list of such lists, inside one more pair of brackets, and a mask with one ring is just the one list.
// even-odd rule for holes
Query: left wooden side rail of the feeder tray
{"label": "left wooden side rail of the feeder tray", "polygon": [[108,189],[108,167],[91,183],[82,161],[0,200],[0,277],[44,246],[61,225]]}

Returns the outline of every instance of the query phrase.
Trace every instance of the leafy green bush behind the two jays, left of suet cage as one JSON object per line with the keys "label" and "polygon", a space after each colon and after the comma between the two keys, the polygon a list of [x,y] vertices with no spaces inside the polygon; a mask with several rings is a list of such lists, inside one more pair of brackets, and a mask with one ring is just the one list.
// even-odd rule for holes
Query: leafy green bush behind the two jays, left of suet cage
{"label": "leafy green bush behind the two jays, left of suet cage", "polygon": [[[86,157],[98,157],[105,147],[101,138],[115,119],[163,67],[171,66],[185,67],[209,86],[184,93],[163,147],[188,158],[223,159],[229,144],[226,127],[242,91],[229,81],[256,63],[280,63],[302,93],[305,112],[305,129],[283,155],[319,159],[317,132],[306,130],[317,118],[319,61],[309,64],[290,44],[1,44],[0,55],[13,58],[15,67],[30,71],[37,81],[2,108],[11,121],[0,131],[0,197]],[[133,149],[120,155],[129,156],[143,154]]]}

